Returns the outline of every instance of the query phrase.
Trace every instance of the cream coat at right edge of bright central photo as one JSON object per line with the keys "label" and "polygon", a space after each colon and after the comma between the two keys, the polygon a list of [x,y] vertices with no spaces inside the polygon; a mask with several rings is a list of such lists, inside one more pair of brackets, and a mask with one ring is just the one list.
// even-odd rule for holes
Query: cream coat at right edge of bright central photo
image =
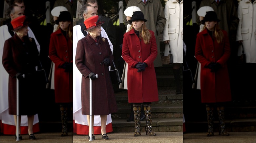
{"label": "cream coat at right edge of bright central photo", "polygon": [[[163,41],[169,40],[174,63],[183,63],[183,1],[166,2],[164,8],[166,24],[163,29]],[[167,44],[166,44],[167,45]],[[169,47],[165,47],[164,56],[169,54]]]}

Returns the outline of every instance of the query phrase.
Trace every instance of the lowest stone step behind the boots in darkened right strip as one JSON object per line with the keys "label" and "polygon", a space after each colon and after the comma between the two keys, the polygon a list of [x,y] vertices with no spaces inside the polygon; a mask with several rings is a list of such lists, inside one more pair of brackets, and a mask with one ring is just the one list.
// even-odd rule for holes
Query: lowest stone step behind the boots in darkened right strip
{"label": "lowest stone step behind the boots in darkened right strip", "polygon": [[[186,132],[207,132],[207,121],[191,122],[185,121]],[[214,121],[214,132],[219,132],[219,122]],[[256,118],[251,119],[225,119],[225,130],[227,132],[255,132],[256,131]]]}

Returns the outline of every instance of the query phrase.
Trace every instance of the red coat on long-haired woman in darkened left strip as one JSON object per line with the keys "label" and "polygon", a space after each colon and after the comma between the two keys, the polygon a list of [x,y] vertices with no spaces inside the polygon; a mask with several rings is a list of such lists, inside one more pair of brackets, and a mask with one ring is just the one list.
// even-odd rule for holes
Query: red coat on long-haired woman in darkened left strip
{"label": "red coat on long-haired woman in darkened left strip", "polygon": [[55,64],[54,92],[56,103],[73,102],[73,71],[65,72],[61,66],[73,63],[73,43],[62,34],[61,29],[51,34],[49,57]]}

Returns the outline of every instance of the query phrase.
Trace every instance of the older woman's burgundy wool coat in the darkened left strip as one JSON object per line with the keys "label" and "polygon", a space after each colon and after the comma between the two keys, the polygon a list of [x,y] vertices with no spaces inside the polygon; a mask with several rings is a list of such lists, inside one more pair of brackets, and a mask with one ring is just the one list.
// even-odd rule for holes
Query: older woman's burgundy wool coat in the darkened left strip
{"label": "older woman's burgundy wool coat in the darkened left strip", "polygon": [[5,41],[2,63],[9,73],[8,103],[9,114],[16,115],[16,74],[25,74],[19,80],[19,115],[35,115],[38,109],[40,83],[36,75],[39,66],[39,53],[35,40],[24,37],[22,41],[16,34]]}

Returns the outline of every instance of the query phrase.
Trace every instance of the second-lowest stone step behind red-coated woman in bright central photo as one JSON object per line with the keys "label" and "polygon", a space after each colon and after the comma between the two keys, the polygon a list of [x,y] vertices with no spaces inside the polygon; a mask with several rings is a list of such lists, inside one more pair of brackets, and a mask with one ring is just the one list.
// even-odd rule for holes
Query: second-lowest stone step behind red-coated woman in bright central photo
{"label": "second-lowest stone step behind red-coated woman in bright central photo", "polygon": [[[183,105],[152,105],[152,118],[182,118]],[[128,119],[131,113],[131,106],[118,106],[118,111],[112,113],[112,119]]]}

